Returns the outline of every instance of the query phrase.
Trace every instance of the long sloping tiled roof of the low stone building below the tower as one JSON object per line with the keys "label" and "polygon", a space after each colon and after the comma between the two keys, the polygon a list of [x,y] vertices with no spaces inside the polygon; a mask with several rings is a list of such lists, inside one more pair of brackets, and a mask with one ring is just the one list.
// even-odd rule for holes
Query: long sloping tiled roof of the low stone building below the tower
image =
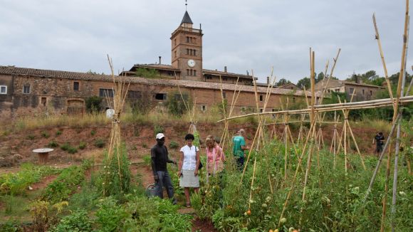
{"label": "long sloping tiled roof of the low stone building below the tower", "polygon": [[[111,75],[100,75],[92,73],[76,73],[76,72],[67,72],[67,71],[58,71],[58,70],[42,70],[34,68],[17,68],[14,66],[0,66],[0,75],[21,75],[21,76],[33,76],[40,78],[64,78],[70,80],[96,80],[96,81],[106,81],[112,82]],[[150,79],[150,78],[138,78],[138,77],[121,77],[116,76],[116,78],[122,78],[126,82],[142,84],[142,85],[160,85],[160,86],[180,86],[182,88],[199,88],[199,89],[209,89],[209,90],[220,90],[220,83],[210,83],[202,81],[193,81],[193,80],[169,80],[169,79]],[[234,91],[236,90],[236,85],[234,84],[222,84],[223,90]],[[237,89],[240,89],[244,92],[253,93],[253,86],[251,85],[238,85]],[[258,93],[266,93],[266,87],[257,87]],[[303,95],[303,90],[297,90],[291,92],[291,90],[286,90],[282,88],[273,88],[273,94],[285,95]],[[310,93],[307,93],[310,95]]]}

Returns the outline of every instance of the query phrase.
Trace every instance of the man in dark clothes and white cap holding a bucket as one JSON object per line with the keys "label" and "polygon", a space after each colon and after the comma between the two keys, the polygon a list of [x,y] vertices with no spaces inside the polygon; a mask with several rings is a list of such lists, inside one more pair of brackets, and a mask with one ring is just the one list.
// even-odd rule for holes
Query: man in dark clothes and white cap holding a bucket
{"label": "man in dark clothes and white cap holding a bucket", "polygon": [[174,187],[172,186],[171,176],[167,170],[167,163],[177,164],[168,157],[168,149],[165,147],[165,136],[162,133],[156,135],[157,144],[150,149],[152,172],[155,179],[157,196],[164,198],[163,188],[167,189],[169,199],[172,199],[174,204],[177,200],[174,199]]}

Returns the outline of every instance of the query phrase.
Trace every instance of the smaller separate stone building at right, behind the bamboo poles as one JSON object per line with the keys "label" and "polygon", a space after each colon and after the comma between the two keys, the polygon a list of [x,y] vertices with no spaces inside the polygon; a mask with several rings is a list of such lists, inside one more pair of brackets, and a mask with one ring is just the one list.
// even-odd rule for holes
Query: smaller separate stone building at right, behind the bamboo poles
{"label": "smaller separate stone building at right, behind the bamboo poles", "polygon": [[[322,80],[315,84],[315,90],[321,92],[324,90],[325,85],[327,85],[327,80]],[[346,80],[331,79],[328,83],[327,92],[346,93],[347,97],[351,97],[352,93],[355,92],[353,101],[364,101],[374,100],[376,93],[384,89],[382,86],[367,85],[362,82],[355,83]]]}

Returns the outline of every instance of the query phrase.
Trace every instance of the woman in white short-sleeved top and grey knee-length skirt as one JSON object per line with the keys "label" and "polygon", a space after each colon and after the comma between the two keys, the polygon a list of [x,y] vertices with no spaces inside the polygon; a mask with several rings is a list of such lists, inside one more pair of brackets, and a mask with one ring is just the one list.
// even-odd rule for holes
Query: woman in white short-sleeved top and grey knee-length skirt
{"label": "woman in white short-sleeved top and grey knee-length skirt", "polygon": [[195,147],[192,142],[195,137],[192,134],[185,136],[187,145],[181,148],[181,157],[179,159],[179,171],[178,175],[179,186],[184,188],[185,197],[187,199],[187,207],[191,206],[191,200],[189,199],[189,188],[194,188],[194,191],[199,191],[199,148]]}

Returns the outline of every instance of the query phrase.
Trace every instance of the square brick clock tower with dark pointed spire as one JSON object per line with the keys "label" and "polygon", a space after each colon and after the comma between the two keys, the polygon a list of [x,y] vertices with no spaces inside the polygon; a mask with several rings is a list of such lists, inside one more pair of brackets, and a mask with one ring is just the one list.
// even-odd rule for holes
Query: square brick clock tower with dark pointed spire
{"label": "square brick clock tower with dark pointed spire", "polygon": [[181,80],[202,80],[202,30],[193,28],[185,11],[179,27],[172,33],[172,67],[181,70]]}

